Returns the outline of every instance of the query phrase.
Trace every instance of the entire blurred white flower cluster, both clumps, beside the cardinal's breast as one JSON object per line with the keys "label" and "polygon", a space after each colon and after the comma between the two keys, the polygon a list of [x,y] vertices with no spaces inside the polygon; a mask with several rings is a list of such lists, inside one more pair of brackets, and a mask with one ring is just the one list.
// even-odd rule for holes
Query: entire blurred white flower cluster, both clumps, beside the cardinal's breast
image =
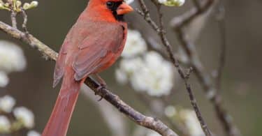
{"label": "entire blurred white flower cluster, both clumps, beside the cardinal's breast", "polygon": [[117,81],[130,82],[136,91],[151,96],[168,95],[173,87],[173,66],[157,52],[147,52],[147,45],[138,31],[129,30],[123,59],[116,70]]}

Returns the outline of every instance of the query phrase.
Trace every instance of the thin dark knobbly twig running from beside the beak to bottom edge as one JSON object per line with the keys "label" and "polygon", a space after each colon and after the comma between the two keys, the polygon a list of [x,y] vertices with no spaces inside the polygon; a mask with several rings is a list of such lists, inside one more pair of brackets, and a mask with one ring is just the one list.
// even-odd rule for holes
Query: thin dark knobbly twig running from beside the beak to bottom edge
{"label": "thin dark knobbly twig running from beside the beak to bottom edge", "polygon": [[142,15],[145,21],[148,24],[150,24],[152,28],[155,31],[157,31],[157,33],[159,34],[159,37],[161,38],[161,41],[164,47],[166,47],[170,61],[173,63],[175,68],[177,68],[177,72],[180,74],[180,77],[182,78],[182,80],[184,80],[184,84],[186,86],[187,93],[189,94],[191,105],[194,108],[194,111],[196,112],[196,116],[198,118],[199,123],[201,123],[201,128],[203,129],[203,132],[205,133],[206,136],[211,136],[212,134],[210,133],[210,130],[201,115],[200,109],[196,103],[196,98],[194,97],[194,93],[188,82],[189,75],[187,75],[187,73],[184,73],[184,70],[180,66],[179,61],[175,58],[175,55],[173,54],[168,38],[166,38],[166,31],[164,31],[164,28],[163,28],[163,13],[161,13],[161,5],[157,3],[156,1],[152,1],[152,3],[154,3],[154,5],[157,7],[157,11],[159,15],[159,26],[158,26],[157,23],[154,22],[154,20],[152,20],[152,18],[150,17],[149,9],[145,5],[145,1],[139,0],[138,2],[140,3],[140,7],[142,8],[142,11],[138,10],[138,13]]}

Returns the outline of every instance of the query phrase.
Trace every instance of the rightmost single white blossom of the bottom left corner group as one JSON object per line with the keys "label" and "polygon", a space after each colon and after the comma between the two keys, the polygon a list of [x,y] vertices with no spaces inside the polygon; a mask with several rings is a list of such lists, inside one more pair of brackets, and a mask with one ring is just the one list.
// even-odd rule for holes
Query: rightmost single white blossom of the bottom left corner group
{"label": "rightmost single white blossom of the bottom left corner group", "polygon": [[34,127],[34,114],[26,107],[16,107],[13,111],[15,118],[20,121],[24,127]]}

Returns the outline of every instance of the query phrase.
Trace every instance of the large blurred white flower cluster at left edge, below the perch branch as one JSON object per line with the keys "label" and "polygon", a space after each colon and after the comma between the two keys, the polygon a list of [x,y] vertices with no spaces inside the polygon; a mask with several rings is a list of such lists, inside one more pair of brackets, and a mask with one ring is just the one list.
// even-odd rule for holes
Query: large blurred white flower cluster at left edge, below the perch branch
{"label": "large blurred white flower cluster at left edge, below the perch branch", "polygon": [[15,43],[0,40],[0,87],[8,84],[8,73],[24,70],[26,59]]}

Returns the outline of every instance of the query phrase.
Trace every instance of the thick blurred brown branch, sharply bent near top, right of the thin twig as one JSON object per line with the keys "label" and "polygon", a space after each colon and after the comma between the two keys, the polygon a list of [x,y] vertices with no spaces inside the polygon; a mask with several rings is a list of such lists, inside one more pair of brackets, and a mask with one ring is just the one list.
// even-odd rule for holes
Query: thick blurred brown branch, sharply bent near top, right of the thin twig
{"label": "thick blurred brown branch, sharply bent near top, right of the thin twig", "polygon": [[[221,96],[219,95],[219,93],[217,93],[217,89],[219,88],[216,88],[214,86],[214,83],[212,82],[210,75],[208,73],[205,73],[205,68],[203,67],[203,64],[201,63],[198,57],[198,53],[196,52],[195,46],[193,46],[193,44],[190,43],[189,40],[187,40],[183,31],[184,27],[186,27],[187,24],[193,22],[196,19],[196,17],[198,17],[198,15],[202,15],[206,11],[212,9],[212,7],[214,7],[214,5],[218,3],[218,1],[219,0],[208,0],[205,2],[204,6],[200,10],[198,10],[198,8],[193,8],[184,15],[181,15],[180,17],[175,17],[171,22],[171,26],[173,27],[175,33],[177,33],[178,40],[180,41],[183,49],[189,57],[189,63],[191,63],[191,66],[194,68],[198,81],[203,87],[203,90],[205,91],[208,99],[214,106],[218,119],[221,122],[221,125],[223,126],[226,134],[228,136],[239,136],[240,133],[238,132],[238,129],[235,127],[231,119],[228,117],[229,115],[222,105]],[[224,47],[222,47],[221,50],[222,51],[220,63],[224,63]],[[224,66],[221,66],[220,64],[218,72],[219,76],[221,76],[221,70],[223,67]],[[219,77],[219,80],[220,78],[221,77]]]}

